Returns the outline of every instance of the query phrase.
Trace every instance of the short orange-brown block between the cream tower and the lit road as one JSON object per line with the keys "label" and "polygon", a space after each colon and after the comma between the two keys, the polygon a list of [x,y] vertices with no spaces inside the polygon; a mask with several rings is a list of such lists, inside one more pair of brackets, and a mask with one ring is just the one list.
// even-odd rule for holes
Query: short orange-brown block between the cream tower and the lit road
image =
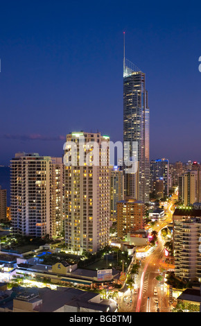
{"label": "short orange-brown block between the cream tower and the lit road", "polygon": [[132,231],[143,229],[145,205],[141,200],[125,197],[117,203],[117,236],[125,237]]}

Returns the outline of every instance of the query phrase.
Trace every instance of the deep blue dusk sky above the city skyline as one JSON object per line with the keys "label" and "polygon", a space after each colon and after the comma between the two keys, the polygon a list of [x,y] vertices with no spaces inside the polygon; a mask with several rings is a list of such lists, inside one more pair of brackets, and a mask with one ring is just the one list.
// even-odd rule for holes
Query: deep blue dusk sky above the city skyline
{"label": "deep blue dusk sky above the city skyline", "polygon": [[200,12],[198,1],[1,3],[0,164],[61,156],[75,130],[122,141],[123,31],[146,72],[150,159],[200,161]]}

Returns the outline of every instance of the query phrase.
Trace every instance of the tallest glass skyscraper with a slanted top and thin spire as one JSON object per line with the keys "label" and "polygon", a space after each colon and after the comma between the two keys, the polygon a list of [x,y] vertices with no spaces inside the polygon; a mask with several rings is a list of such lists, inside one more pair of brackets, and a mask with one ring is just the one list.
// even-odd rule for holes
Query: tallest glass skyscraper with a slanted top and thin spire
{"label": "tallest glass skyscraper with a slanted top and thin spire", "polygon": [[[125,59],[124,45],[123,141],[130,144],[128,159],[136,157],[138,162],[137,172],[125,173],[125,196],[132,196],[143,203],[149,200],[149,114],[146,74]],[[133,141],[137,142],[137,151],[133,150]]]}

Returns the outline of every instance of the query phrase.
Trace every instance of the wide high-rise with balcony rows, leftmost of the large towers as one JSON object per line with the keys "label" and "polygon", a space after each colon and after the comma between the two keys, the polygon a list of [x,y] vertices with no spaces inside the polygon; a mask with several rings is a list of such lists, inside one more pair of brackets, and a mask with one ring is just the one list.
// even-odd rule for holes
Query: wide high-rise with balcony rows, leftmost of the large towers
{"label": "wide high-rise with balcony rows, leftmost of the large towers", "polygon": [[[43,238],[56,235],[57,159],[37,153],[17,153],[10,161],[10,216],[13,234]],[[57,191],[58,190],[58,191]],[[61,196],[60,200],[58,197]]]}

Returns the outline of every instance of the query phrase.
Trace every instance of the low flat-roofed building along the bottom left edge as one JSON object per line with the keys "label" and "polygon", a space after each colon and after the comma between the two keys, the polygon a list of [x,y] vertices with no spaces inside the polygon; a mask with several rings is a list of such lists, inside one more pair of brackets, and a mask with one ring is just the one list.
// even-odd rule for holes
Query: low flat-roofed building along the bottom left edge
{"label": "low flat-roofed building along the bottom left edge", "polygon": [[[3,295],[3,293],[2,293]],[[103,300],[100,294],[73,288],[23,288],[4,292],[0,299],[1,312],[117,312],[112,299]]]}

